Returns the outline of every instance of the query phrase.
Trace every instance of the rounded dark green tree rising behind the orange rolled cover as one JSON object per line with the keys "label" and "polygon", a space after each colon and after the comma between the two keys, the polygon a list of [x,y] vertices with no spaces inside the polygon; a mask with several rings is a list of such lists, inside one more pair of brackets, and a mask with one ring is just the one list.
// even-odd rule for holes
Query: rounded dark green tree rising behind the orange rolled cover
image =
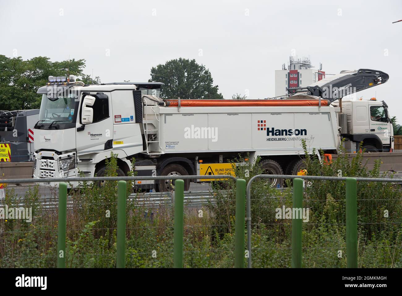
{"label": "rounded dark green tree rising behind the orange rolled cover", "polygon": [[195,60],[179,58],[152,67],[149,82],[163,82],[161,97],[167,99],[223,99],[211,72]]}

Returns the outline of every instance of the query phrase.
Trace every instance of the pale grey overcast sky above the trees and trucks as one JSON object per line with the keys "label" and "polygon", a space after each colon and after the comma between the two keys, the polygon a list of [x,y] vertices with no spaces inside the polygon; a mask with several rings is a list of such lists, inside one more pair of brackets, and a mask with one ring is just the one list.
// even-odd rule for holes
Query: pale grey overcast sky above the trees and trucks
{"label": "pale grey overcast sky above the trees and trucks", "polygon": [[[390,75],[377,95],[402,122],[402,1],[5,1],[0,54],[86,60],[101,81],[148,81],[152,66],[195,59],[224,98],[275,95],[275,70],[293,52],[327,73]],[[60,73],[54,73],[59,75]]]}

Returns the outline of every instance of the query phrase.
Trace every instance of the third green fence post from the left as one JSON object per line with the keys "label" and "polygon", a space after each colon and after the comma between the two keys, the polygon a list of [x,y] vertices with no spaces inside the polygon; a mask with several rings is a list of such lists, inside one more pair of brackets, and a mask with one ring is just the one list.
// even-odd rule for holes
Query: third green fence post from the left
{"label": "third green fence post from the left", "polygon": [[174,182],[173,267],[183,268],[184,181]]}

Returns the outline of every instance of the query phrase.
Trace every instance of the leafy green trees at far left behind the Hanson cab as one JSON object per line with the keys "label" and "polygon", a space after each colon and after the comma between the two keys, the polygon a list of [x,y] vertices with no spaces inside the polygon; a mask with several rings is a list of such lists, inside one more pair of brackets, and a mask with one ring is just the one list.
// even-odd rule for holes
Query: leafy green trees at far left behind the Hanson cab
{"label": "leafy green trees at far left behind the Hanson cab", "polygon": [[45,85],[49,76],[82,77],[84,83],[100,83],[99,77],[84,75],[85,60],[51,62],[38,56],[23,60],[21,56],[8,58],[0,55],[0,110],[24,110],[39,108],[41,95],[36,92]]}

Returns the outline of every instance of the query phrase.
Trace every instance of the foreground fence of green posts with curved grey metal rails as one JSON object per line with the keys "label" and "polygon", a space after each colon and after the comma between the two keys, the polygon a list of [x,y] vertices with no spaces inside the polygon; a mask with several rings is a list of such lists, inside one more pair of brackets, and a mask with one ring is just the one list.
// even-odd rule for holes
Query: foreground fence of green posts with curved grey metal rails
{"label": "foreground fence of green posts with curved grey metal rails", "polygon": [[[257,178],[284,178],[293,179],[293,200],[292,207],[295,209],[303,207],[303,180],[334,180],[346,182],[346,249],[347,267],[358,266],[357,248],[357,181],[363,182],[394,182],[401,183],[402,180],[389,178],[346,178],[346,177],[324,177],[324,176],[283,176],[283,175],[257,175],[252,177],[247,186],[243,179],[236,179],[233,176],[158,176],[158,177],[97,177],[97,178],[76,178],[82,181],[114,180],[117,185],[117,241],[116,241],[116,267],[125,267],[126,252],[126,181],[125,180],[164,180],[174,179],[174,250],[173,266],[183,267],[183,230],[184,230],[184,181],[183,179],[199,178],[230,178],[236,181],[236,215],[235,215],[235,237],[234,237],[234,267],[244,267],[244,261],[248,257],[248,267],[251,267],[251,199],[250,189],[252,182]],[[121,180],[124,179],[124,180]],[[29,179],[32,182],[32,179]],[[61,181],[65,179],[41,179],[37,182]],[[73,181],[73,180],[72,180]],[[21,180],[2,180],[3,183],[19,183]],[[247,214],[246,214],[247,205]],[[66,267],[66,213],[67,213],[67,184],[59,183],[58,203],[58,226],[57,226],[57,267]],[[245,217],[246,216],[246,217]],[[247,252],[245,256],[245,221],[247,222]],[[291,267],[302,267],[302,219],[292,219],[291,225]]]}

